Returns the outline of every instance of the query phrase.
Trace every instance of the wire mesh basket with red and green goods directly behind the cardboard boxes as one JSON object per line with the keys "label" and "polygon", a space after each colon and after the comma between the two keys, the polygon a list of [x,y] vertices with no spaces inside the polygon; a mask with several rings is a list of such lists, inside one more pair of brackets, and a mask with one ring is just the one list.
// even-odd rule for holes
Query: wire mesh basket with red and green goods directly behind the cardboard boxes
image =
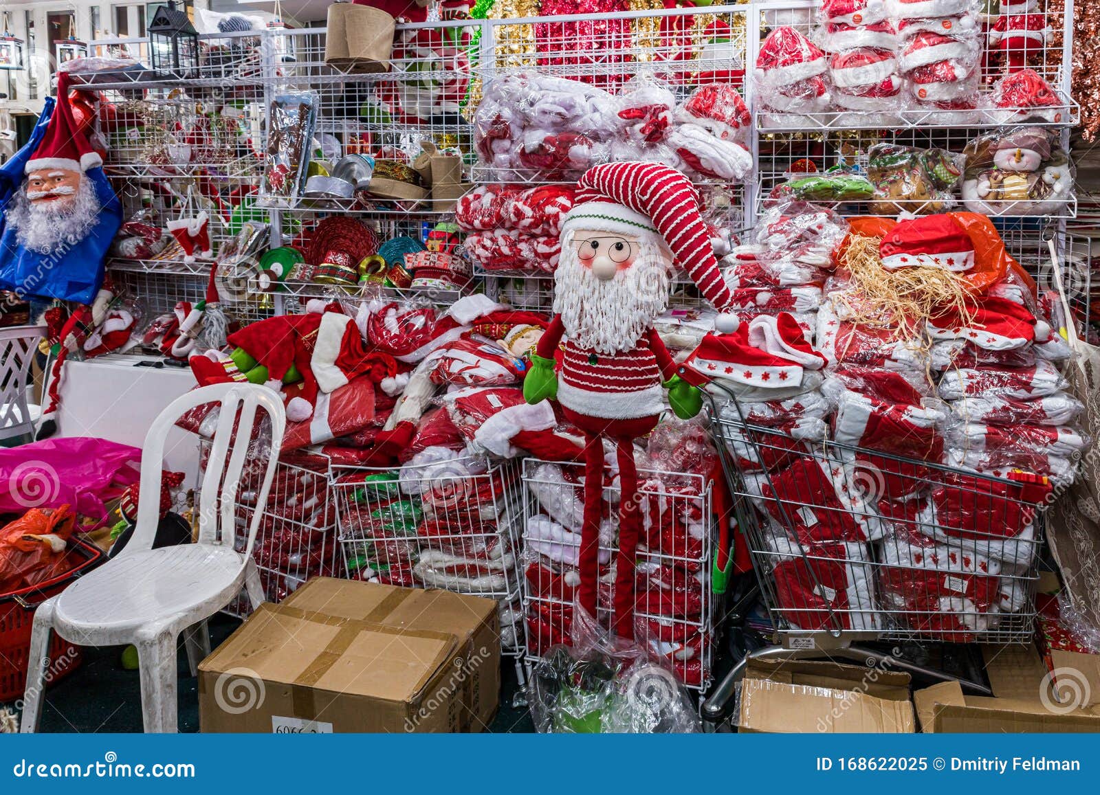
{"label": "wire mesh basket with red and green goods directly behind the cardboard boxes", "polygon": [[519,472],[453,457],[394,468],[334,466],[346,575],[495,599],[504,653],[518,659]]}

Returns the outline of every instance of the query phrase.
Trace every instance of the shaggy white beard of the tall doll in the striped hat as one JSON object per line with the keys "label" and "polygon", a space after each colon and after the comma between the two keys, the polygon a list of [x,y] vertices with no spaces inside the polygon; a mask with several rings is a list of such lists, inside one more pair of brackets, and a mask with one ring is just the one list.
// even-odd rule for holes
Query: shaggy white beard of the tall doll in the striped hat
{"label": "shaggy white beard of the tall doll in the striped hat", "polygon": [[640,247],[630,267],[602,281],[581,265],[572,230],[562,235],[553,310],[578,345],[598,353],[629,351],[669,308],[668,252],[648,242]]}

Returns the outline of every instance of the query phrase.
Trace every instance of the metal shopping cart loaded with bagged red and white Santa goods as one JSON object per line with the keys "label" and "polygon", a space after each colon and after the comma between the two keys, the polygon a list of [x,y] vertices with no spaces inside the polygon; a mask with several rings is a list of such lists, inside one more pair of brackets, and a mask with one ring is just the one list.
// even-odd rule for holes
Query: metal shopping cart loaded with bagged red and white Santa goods
{"label": "metal shopping cart loaded with bagged red and white Santa goods", "polygon": [[[944,680],[897,651],[861,643],[1031,640],[1052,494],[1044,479],[798,439],[746,421],[722,382],[703,386],[734,519],[778,644],[734,667],[704,703],[704,720],[726,717],[749,658],[827,652]],[[961,684],[989,693],[978,682]]]}

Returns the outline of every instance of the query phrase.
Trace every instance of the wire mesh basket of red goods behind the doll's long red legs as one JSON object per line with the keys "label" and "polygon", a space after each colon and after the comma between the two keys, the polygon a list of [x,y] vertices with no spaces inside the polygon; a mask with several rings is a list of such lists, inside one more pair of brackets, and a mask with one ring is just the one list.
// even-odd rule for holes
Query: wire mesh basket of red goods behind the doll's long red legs
{"label": "wire mesh basket of red goods behind the doll's long red legs", "polygon": [[[582,464],[524,461],[524,627],[528,666],[559,643],[570,643],[580,575]],[[609,481],[609,478],[608,478]],[[716,597],[711,590],[714,526],[711,484],[704,475],[638,471],[642,542],[637,555],[635,597],[639,638],[656,660],[688,687],[705,691],[712,681],[716,642]],[[618,486],[604,488],[600,533],[601,577],[597,619],[610,620],[618,549]]]}

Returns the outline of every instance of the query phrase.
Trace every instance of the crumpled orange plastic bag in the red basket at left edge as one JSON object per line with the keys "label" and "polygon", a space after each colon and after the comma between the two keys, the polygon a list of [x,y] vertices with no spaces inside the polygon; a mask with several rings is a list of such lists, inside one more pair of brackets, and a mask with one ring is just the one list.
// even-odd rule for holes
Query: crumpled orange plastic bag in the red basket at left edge
{"label": "crumpled orange plastic bag in the red basket at left edge", "polygon": [[69,555],[76,525],[69,506],[31,508],[0,529],[0,594],[29,588],[64,574],[80,562]]}

